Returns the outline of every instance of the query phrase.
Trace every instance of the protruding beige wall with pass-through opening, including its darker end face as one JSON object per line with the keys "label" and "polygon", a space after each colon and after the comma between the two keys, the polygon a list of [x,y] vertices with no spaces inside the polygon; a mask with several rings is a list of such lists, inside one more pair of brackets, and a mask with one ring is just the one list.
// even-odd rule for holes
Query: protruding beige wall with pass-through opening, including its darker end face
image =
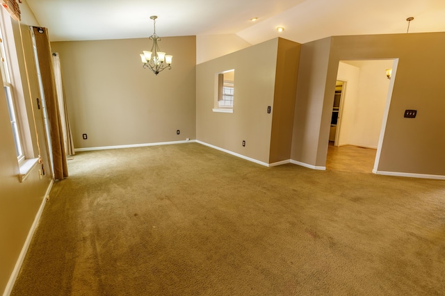
{"label": "protruding beige wall with pass-through opening, including its darker end face", "polygon": [[[300,44],[275,38],[197,65],[197,140],[261,163],[289,161],[299,54]],[[215,75],[229,69],[233,113],[216,113]]]}

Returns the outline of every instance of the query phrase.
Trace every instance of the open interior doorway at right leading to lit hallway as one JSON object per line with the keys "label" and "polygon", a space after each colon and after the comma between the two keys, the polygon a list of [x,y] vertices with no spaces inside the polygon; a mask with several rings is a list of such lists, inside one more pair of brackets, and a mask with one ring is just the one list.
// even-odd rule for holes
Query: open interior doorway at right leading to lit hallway
{"label": "open interior doorway at right leading to lit hallway", "polygon": [[[341,60],[333,94],[326,169],[373,172],[378,165],[396,60]],[[391,78],[391,79],[389,79]]]}

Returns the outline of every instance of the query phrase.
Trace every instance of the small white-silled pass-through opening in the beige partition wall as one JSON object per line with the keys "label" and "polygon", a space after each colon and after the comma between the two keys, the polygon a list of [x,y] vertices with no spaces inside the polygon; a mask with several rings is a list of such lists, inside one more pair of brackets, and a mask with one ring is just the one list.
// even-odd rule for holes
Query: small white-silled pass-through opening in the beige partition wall
{"label": "small white-silled pass-through opening in the beige partition wall", "polygon": [[213,112],[233,113],[234,108],[234,76],[235,70],[227,70],[216,74],[215,104]]}

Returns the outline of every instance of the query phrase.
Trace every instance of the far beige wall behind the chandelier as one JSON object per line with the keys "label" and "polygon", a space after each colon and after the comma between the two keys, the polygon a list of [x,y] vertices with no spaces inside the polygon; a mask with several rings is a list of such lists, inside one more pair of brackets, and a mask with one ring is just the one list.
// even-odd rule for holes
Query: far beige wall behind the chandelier
{"label": "far beige wall behind the chandelier", "polygon": [[194,36],[162,38],[172,69],[156,76],[140,62],[139,54],[151,48],[148,38],[52,42],[60,54],[74,147],[194,139],[195,43]]}

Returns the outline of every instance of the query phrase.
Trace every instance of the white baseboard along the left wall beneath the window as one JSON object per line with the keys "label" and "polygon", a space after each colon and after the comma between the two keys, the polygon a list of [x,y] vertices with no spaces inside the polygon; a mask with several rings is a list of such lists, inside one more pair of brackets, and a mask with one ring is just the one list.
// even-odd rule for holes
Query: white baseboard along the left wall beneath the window
{"label": "white baseboard along the left wall beneath the window", "polygon": [[39,223],[40,217],[42,216],[43,208],[44,208],[45,204],[47,204],[47,197],[49,196],[49,192],[51,191],[53,184],[54,184],[54,181],[51,180],[51,183],[49,183],[49,186],[47,188],[47,192],[45,192],[45,194],[43,196],[42,204],[40,204],[39,211],[35,215],[34,222],[31,225],[31,229],[29,229],[28,236],[26,237],[25,243],[22,247],[22,252],[20,252],[19,258],[17,259],[17,262],[15,263],[13,273],[9,277],[8,284],[6,284],[6,288],[3,292],[3,296],[9,296],[10,293],[13,291],[15,280],[17,279],[17,276],[19,275],[20,268],[22,268],[22,264],[23,264],[24,258],[26,256],[26,252],[28,252],[29,245],[31,244],[31,240],[33,238],[35,229],[37,229],[37,225]]}

